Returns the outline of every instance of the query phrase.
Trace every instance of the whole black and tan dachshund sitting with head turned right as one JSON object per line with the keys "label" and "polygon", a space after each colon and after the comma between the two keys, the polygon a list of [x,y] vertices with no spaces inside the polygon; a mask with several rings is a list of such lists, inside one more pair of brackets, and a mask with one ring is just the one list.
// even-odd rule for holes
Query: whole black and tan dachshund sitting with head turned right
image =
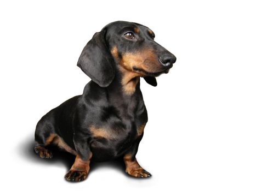
{"label": "whole black and tan dachshund sitting with head turned right", "polygon": [[154,37],[143,25],[116,21],[84,47],[77,65],[92,81],[81,96],[44,115],[35,132],[35,152],[41,158],[52,158],[45,148],[50,144],[76,156],[66,180],[84,180],[90,160],[120,157],[129,175],[151,176],[135,158],[147,122],[140,77],[156,86],[155,77],[168,73],[176,61]]}

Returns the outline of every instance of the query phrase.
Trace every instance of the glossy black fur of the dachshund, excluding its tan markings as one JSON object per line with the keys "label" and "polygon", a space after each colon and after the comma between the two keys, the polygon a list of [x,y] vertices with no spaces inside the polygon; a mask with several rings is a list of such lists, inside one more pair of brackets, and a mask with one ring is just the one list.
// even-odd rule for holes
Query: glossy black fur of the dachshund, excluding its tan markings
{"label": "glossy black fur of the dachshund, excluding its tan markings", "polygon": [[[139,28],[139,33],[134,31],[135,27]],[[127,32],[133,32],[136,39],[126,39]],[[117,57],[111,53],[114,46],[118,50]],[[155,76],[167,73],[176,58],[153,40],[149,28],[117,21],[95,33],[77,64],[92,81],[84,87],[81,96],[67,100],[42,117],[36,127],[35,147],[44,147],[50,134],[56,134],[83,160],[88,160],[90,153],[96,161],[112,160],[126,153],[135,159],[143,137],[143,132],[138,135],[138,128],[146,124],[147,110],[139,81],[132,94],[123,91],[120,60],[123,53],[136,53],[146,47],[155,50],[161,60],[162,55],[170,57],[168,63],[153,63],[160,69],[157,71],[153,68],[147,72],[134,67],[133,72],[138,71],[147,83],[156,86]],[[92,126],[104,128],[113,138],[95,137],[90,130]]]}

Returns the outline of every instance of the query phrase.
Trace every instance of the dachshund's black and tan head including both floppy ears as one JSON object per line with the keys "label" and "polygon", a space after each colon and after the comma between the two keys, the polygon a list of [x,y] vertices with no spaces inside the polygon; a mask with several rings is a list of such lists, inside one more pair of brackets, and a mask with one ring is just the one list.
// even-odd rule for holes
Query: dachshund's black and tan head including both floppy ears
{"label": "dachshund's black and tan head including both floppy ears", "polygon": [[138,23],[116,21],[105,26],[84,47],[78,67],[101,87],[115,77],[115,68],[130,80],[144,77],[156,86],[155,77],[168,73],[176,57],[154,41],[151,29]]}

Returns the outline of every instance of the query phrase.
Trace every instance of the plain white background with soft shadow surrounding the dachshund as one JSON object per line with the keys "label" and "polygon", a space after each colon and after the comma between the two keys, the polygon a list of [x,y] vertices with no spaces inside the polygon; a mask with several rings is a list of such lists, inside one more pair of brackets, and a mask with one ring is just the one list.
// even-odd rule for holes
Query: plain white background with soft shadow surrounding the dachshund
{"label": "plain white background with soft shadow surrounding the dachshund", "polygon": [[[1,1],[1,189],[255,190],[255,18],[253,1]],[[72,184],[72,162],[39,159],[33,133],[82,93],[78,57],[116,20],[150,27],[177,57],[157,87],[141,80],[149,122],[137,158],[153,176],[100,163]]]}

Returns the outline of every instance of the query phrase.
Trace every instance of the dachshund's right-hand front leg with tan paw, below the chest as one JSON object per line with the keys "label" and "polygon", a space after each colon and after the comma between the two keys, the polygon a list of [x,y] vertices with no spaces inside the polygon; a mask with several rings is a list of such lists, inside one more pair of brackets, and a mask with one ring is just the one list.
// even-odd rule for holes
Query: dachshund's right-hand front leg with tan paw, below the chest
{"label": "dachshund's right-hand front leg with tan paw, below the chest", "polygon": [[132,148],[130,148],[130,150],[126,154],[124,154],[123,160],[124,164],[126,164],[126,172],[129,175],[133,177],[150,177],[152,175],[139,165],[135,157],[136,153],[138,152],[138,147],[141,139],[142,135],[141,138],[139,138],[134,143]]}

